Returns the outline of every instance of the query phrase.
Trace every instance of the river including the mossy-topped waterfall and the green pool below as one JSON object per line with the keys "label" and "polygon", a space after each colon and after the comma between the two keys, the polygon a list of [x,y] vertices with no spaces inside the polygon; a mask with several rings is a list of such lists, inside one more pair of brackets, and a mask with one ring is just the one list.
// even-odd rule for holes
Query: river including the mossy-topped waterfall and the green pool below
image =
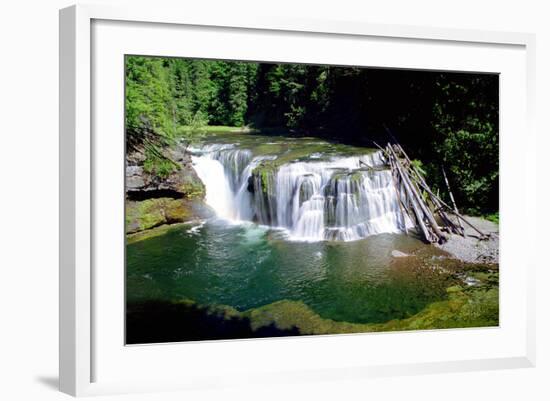
{"label": "river including the mossy-topped waterfall and the green pool below", "polygon": [[456,282],[437,269],[444,252],[403,233],[411,222],[375,150],[220,134],[191,151],[213,214],[128,245],[129,302],[246,311],[293,300],[322,318],[377,323],[445,299]]}

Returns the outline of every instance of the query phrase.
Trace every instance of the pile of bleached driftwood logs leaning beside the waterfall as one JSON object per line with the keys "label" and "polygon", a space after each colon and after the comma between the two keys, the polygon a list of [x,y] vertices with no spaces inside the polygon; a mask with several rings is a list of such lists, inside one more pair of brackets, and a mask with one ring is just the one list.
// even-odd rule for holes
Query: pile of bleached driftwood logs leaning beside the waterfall
{"label": "pile of bleached driftwood logs leaning beside the waterfall", "polygon": [[[459,212],[451,192],[445,170],[443,177],[453,206],[449,206],[428,186],[417,167],[411,162],[401,145],[388,143],[380,147],[387,164],[391,167],[395,189],[399,197],[403,221],[408,216],[417,227],[418,233],[430,243],[444,243],[451,233],[466,236],[464,225],[472,228],[480,239],[488,239],[485,234]],[[405,231],[407,228],[405,227]]]}

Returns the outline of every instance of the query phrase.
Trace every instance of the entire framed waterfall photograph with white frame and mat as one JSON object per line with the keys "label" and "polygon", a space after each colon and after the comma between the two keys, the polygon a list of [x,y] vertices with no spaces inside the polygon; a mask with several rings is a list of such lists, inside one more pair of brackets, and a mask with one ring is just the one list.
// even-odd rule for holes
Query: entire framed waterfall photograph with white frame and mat
{"label": "entire framed waterfall photograph with white frame and mat", "polygon": [[532,35],[73,6],[60,52],[62,391],[534,365]]}

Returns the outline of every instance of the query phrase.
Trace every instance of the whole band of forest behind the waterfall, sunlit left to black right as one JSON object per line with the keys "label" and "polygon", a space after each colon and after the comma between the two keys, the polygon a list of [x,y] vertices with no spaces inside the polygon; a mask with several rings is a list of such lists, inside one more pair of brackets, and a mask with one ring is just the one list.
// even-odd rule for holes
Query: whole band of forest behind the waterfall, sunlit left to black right
{"label": "whole band of forest behind the waterfall, sunlit left to black right", "polygon": [[204,127],[319,136],[373,147],[398,141],[443,196],[442,168],[460,209],[498,212],[498,75],[126,58],[128,151],[150,170],[177,168],[163,149]]}

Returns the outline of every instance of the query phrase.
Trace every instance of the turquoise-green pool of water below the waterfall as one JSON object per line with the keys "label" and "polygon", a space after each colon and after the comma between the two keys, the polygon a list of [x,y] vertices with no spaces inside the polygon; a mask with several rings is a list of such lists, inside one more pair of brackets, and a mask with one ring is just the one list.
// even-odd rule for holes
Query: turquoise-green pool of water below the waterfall
{"label": "turquoise-green pool of water below the waterfall", "polygon": [[[393,258],[392,250],[415,253]],[[239,311],[288,299],[321,317],[385,322],[444,299],[455,280],[427,268],[439,251],[381,234],[352,242],[293,242],[253,223],[211,219],[127,246],[128,302],[191,299]]]}

